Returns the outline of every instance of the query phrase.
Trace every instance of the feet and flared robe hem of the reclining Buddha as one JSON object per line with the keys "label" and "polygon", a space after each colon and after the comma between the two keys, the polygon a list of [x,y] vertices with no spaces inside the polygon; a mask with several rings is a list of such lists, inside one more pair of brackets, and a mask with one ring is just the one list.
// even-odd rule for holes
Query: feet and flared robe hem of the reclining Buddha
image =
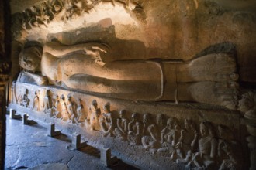
{"label": "feet and flared robe hem of the reclining Buddha", "polygon": [[181,66],[181,70],[178,100],[236,109],[239,76],[234,56],[226,53],[201,56]]}

